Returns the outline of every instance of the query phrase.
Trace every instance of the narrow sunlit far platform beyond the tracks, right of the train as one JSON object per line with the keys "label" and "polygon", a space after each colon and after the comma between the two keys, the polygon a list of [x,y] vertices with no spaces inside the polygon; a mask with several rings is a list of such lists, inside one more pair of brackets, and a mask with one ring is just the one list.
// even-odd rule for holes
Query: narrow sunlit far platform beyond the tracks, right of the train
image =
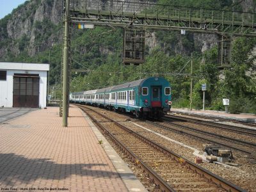
{"label": "narrow sunlit far platform beyond the tracks, right of the train", "polygon": [[170,113],[184,113],[190,115],[201,115],[209,116],[212,118],[225,118],[227,120],[239,120],[241,122],[255,122],[256,125],[256,115],[253,114],[230,114],[225,113],[225,111],[211,111],[211,110],[195,110],[190,111],[189,109],[179,109],[172,108]]}

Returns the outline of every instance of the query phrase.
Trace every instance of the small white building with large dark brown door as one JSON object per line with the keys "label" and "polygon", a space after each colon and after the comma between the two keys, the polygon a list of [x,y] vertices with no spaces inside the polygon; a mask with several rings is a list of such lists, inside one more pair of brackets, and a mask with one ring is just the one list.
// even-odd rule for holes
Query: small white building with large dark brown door
{"label": "small white building with large dark brown door", "polygon": [[0,62],[0,107],[45,108],[49,64]]}

